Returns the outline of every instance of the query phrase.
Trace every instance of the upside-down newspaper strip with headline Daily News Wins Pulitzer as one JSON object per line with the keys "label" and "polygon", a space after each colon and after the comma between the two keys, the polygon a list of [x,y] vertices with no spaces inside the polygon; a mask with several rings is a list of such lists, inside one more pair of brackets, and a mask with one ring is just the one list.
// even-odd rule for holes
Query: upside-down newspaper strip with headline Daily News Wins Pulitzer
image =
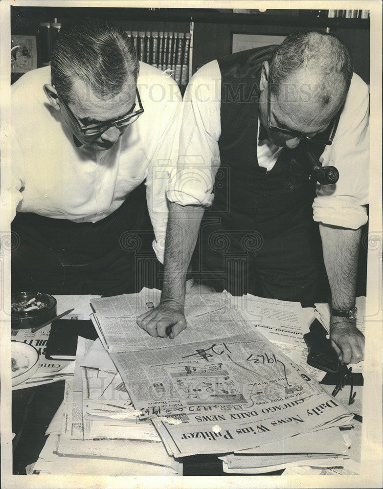
{"label": "upside-down newspaper strip with headline Daily News Wins Pulitzer", "polygon": [[[266,402],[248,410],[178,414],[154,418],[158,433],[174,457],[228,453],[347,424],[352,415],[323,393],[288,402]],[[180,423],[175,423],[178,420]]]}

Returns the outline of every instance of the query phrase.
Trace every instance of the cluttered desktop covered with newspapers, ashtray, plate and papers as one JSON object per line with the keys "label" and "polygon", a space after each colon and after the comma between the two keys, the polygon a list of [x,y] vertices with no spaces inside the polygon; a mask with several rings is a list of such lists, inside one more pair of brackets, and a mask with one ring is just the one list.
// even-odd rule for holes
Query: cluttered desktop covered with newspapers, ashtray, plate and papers
{"label": "cluttered desktop covered with newspapers, ashtray, plate and papers", "polygon": [[359,473],[363,362],[313,348],[327,304],[193,294],[170,340],[136,324],[157,289],[37,295],[12,298],[14,474]]}

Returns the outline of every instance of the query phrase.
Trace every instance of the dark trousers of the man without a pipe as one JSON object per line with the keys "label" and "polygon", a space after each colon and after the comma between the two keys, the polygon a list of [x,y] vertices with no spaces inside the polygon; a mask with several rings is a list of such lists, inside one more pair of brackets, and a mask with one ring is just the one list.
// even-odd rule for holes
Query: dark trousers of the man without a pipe
{"label": "dark trousers of the man without a pipe", "polygon": [[[101,221],[17,213],[12,231],[20,243],[12,252],[13,292],[105,296],[156,286],[158,262],[143,184]],[[137,266],[140,257],[150,262],[149,273]]]}

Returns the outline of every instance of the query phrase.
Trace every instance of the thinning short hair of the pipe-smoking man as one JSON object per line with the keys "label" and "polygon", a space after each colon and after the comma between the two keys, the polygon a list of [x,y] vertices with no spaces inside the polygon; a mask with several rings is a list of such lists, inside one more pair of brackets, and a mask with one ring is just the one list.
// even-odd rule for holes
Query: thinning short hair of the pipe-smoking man
{"label": "thinning short hair of the pipe-smoking man", "polygon": [[268,86],[278,96],[291,74],[307,71],[318,80],[316,94],[322,107],[334,99],[341,105],[350,88],[353,68],[350,51],[335,36],[313,30],[296,31],[275,49]]}

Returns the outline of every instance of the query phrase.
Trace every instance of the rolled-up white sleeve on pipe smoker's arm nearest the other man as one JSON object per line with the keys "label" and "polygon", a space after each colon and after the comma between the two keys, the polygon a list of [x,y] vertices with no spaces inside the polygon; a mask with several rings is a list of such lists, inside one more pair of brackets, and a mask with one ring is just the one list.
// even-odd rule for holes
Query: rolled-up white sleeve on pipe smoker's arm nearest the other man
{"label": "rolled-up white sleeve on pipe smoker's arm nearest the other man", "polygon": [[220,166],[220,99],[221,73],[214,60],[197,71],[183,97],[177,171],[167,192],[171,202],[183,206],[213,202]]}

